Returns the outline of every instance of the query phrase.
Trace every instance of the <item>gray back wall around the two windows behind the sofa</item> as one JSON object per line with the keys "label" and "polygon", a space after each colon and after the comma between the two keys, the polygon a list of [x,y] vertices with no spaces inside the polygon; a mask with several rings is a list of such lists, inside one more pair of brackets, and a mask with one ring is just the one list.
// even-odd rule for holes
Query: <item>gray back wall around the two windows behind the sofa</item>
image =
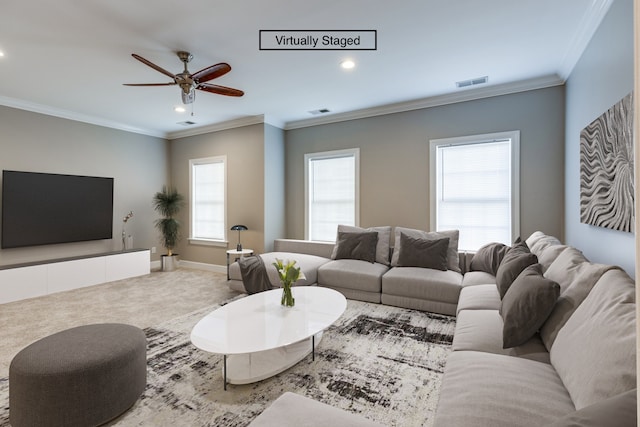
{"label": "gray back wall around the two windows behind the sofa", "polygon": [[360,148],[360,225],[428,230],[429,140],[520,130],[521,228],[562,238],[564,87],[287,131],[287,237],[304,238],[304,154]]}

